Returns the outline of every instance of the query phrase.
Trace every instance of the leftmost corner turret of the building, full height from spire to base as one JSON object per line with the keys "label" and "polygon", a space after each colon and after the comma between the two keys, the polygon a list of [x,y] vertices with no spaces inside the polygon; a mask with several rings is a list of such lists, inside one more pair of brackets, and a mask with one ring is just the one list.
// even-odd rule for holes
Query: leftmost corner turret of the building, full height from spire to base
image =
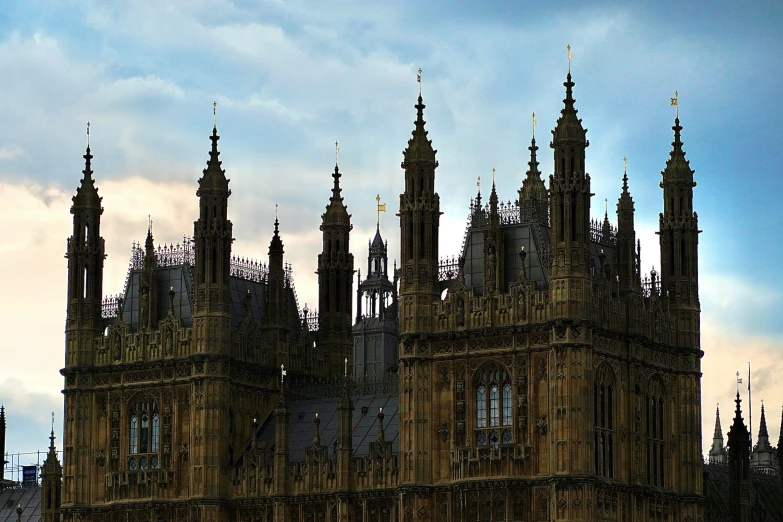
{"label": "leftmost corner turret of the building, full height from spire to base", "polygon": [[[73,197],[73,233],[67,242],[68,312],[65,326],[65,461],[63,503],[89,502],[93,477],[93,396],[89,386],[76,375],[94,364],[95,338],[103,331],[103,261],[105,244],[101,237],[101,197],[92,178],[92,154],[87,124],[87,152],[81,185]],[[82,380],[83,381],[83,380]],[[79,415],[76,415],[79,412]]]}

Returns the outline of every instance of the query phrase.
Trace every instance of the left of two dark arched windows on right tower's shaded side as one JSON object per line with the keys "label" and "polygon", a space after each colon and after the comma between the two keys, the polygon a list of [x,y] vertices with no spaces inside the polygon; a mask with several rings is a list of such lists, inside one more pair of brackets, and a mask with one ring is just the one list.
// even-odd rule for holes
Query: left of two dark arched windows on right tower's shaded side
{"label": "left of two dark arched windows on right tower's shaded side", "polygon": [[593,424],[595,425],[595,472],[614,478],[614,378],[604,364],[598,367],[593,384]]}

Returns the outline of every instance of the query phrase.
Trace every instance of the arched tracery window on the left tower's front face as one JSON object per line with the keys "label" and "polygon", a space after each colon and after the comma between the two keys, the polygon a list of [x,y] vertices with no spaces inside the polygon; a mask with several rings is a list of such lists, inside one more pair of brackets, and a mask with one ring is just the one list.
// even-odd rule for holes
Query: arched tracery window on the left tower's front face
{"label": "arched tracery window on the left tower's front face", "polygon": [[142,398],[131,405],[128,468],[157,469],[160,452],[160,412],[154,400]]}

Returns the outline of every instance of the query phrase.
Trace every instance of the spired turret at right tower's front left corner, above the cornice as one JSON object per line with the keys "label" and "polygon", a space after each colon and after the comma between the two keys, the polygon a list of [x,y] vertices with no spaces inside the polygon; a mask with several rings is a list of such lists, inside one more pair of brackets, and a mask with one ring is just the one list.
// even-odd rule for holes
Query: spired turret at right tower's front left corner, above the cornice
{"label": "spired turret at right tower's front left corner, above the cornice", "polygon": [[419,93],[416,121],[408,146],[403,151],[401,167],[405,170],[405,192],[400,194],[400,238],[402,279],[400,293],[414,297],[419,313],[402,310],[400,333],[428,331],[431,327],[426,301],[439,297],[438,230],[440,196],[435,192],[435,159],[437,151],[427,137],[424,101]]}

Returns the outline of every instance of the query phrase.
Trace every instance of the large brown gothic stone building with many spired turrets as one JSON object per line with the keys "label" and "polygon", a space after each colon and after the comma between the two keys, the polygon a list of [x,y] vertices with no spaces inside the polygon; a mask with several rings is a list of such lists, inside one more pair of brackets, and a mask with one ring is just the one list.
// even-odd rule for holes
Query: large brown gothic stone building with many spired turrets
{"label": "large brown gothic stone building with many spired turrets", "polygon": [[682,127],[662,172],[660,275],[642,277],[627,176],[616,228],[590,219],[570,73],[564,85],[548,188],[533,140],[518,200],[499,203],[494,183],[488,205],[479,194],[445,263],[419,96],[400,268],[390,280],[379,232],[355,328],[337,167],[317,315],[298,308],[277,221],[268,264],[232,253],[217,129],[192,240],[156,248],[150,229],[122,299],[104,302],[88,147],[66,255],[63,520],[703,520]]}

